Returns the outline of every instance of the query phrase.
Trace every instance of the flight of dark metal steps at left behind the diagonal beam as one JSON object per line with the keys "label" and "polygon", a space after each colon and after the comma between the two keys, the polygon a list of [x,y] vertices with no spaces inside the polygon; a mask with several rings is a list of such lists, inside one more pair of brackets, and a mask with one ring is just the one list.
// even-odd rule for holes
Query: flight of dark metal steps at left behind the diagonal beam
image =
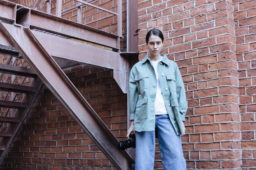
{"label": "flight of dark metal steps at left behind the diagonal beam", "polygon": [[5,64],[0,65],[0,162],[43,86],[37,74],[24,67],[24,63],[20,57],[8,56]]}

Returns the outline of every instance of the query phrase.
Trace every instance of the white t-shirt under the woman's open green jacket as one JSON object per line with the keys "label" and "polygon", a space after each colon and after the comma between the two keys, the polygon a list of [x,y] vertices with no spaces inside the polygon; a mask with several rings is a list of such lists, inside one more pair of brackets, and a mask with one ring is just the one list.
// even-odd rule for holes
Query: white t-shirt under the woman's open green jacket
{"label": "white t-shirt under the woman's open green jacket", "polygon": [[162,58],[158,61],[151,61],[154,66],[155,73],[156,73],[156,98],[155,98],[155,114],[156,115],[168,114],[166,106],[165,106],[165,101],[163,100],[162,90],[161,90],[158,73],[157,73],[157,65],[158,65],[159,61],[162,60]]}

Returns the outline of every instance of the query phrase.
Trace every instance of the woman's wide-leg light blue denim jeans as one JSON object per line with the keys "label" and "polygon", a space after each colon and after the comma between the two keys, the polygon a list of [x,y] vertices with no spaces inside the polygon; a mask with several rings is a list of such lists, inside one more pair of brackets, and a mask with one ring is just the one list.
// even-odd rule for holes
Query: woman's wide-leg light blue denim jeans
{"label": "woman's wide-leg light blue denim jeans", "polygon": [[[176,135],[169,115],[156,115],[155,128],[164,170],[186,170],[181,135]],[[136,132],[135,170],[153,170],[155,162],[155,131]]]}

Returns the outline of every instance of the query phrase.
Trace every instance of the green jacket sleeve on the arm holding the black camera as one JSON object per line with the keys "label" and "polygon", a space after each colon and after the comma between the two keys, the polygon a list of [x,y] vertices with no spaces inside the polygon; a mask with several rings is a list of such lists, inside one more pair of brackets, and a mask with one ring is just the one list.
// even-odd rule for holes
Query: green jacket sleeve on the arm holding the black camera
{"label": "green jacket sleeve on the arm holding the black camera", "polygon": [[135,75],[133,69],[131,69],[130,77],[129,77],[129,112],[130,112],[130,120],[134,120],[136,103],[138,101],[138,88],[135,81]]}

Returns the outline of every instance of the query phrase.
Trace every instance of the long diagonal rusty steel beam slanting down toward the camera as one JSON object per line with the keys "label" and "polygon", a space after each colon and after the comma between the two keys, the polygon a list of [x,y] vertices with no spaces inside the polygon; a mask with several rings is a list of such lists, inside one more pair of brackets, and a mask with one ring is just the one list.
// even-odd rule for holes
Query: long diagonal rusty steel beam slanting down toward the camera
{"label": "long diagonal rusty steel beam slanting down toward the camera", "polygon": [[2,34],[10,39],[10,43],[22,54],[38,77],[53,92],[111,163],[117,169],[132,169],[134,160],[126,151],[117,149],[118,141],[115,136],[56,64],[51,55],[43,48],[31,30],[29,28],[19,28],[19,32],[11,35],[5,25],[0,21]]}

